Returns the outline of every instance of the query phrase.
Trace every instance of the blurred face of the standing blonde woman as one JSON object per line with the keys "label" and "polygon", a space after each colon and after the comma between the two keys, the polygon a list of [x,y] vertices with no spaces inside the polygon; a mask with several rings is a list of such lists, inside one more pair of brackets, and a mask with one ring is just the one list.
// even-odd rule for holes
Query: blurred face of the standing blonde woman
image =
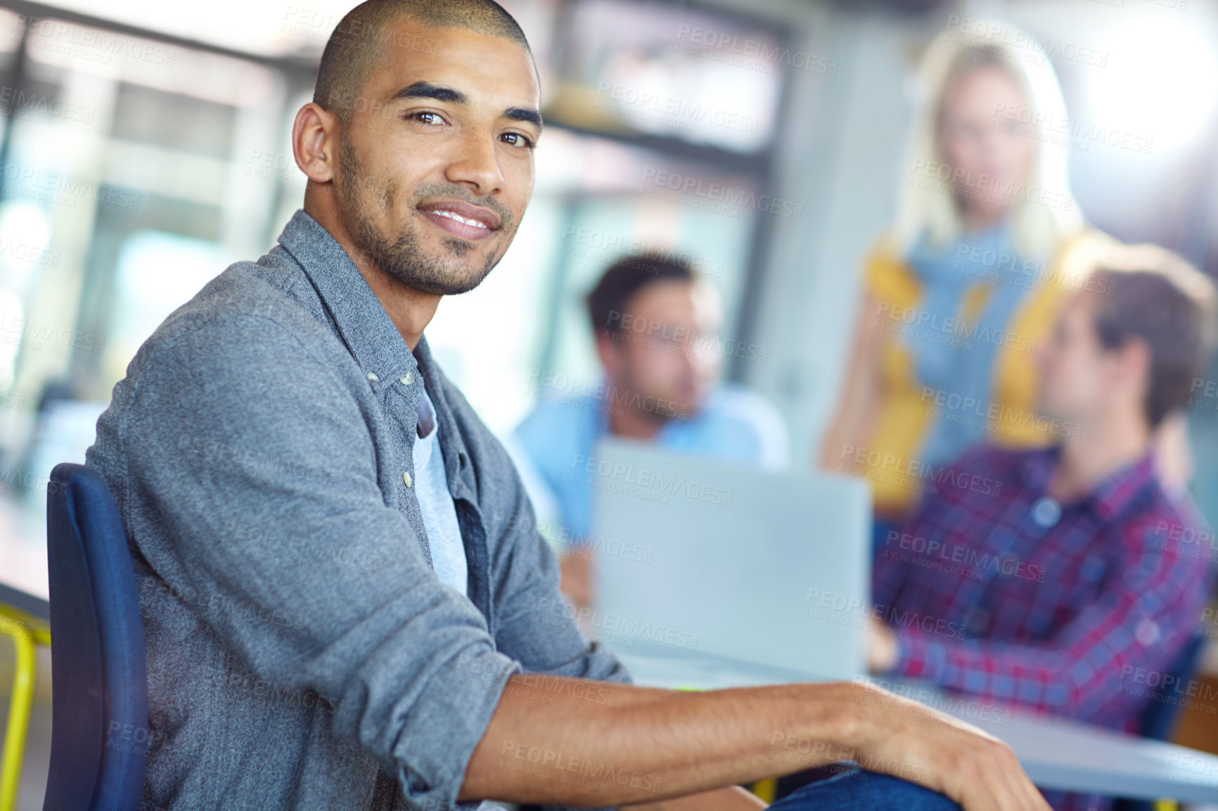
{"label": "blurred face of the standing blonde woman", "polygon": [[998,67],[970,71],[944,95],[939,132],[943,160],[961,170],[954,181],[957,200],[985,219],[1010,207],[1032,170],[1034,133],[1021,125],[1018,117],[1006,116],[1006,111],[1026,108],[1019,85]]}

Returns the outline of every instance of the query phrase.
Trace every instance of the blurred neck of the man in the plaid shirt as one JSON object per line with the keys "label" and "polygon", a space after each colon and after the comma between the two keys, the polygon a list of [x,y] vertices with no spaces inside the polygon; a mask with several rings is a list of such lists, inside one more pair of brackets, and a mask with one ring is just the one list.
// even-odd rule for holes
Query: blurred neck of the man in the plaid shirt
{"label": "blurred neck of the man in the plaid shirt", "polygon": [[1140,412],[1095,416],[1062,443],[1050,494],[1066,503],[1083,497],[1150,447],[1150,427]]}

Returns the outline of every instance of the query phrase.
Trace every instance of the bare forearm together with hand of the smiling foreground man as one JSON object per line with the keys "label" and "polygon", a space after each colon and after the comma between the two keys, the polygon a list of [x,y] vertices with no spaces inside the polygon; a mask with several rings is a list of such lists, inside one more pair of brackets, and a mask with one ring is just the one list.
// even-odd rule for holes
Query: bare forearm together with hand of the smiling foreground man
{"label": "bare forearm together with hand of the smiling foreground man", "polygon": [[596,807],[680,798],[661,807],[683,807],[706,793],[727,811],[742,798],[713,789],[837,760],[921,783],[966,811],[1049,811],[1010,746],[867,684],[685,693],[530,673],[508,679],[458,799]]}

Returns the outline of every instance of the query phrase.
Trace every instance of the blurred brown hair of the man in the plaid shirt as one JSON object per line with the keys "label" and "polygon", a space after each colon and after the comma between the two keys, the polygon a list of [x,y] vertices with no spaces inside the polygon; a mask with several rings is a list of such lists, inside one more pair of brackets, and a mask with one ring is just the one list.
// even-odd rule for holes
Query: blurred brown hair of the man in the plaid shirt
{"label": "blurred brown hair of the man in the plaid shirt", "polygon": [[[1194,380],[1214,347],[1216,292],[1207,275],[1157,245],[1124,245],[1101,256],[1093,272],[1095,331],[1114,349],[1139,337],[1150,347],[1146,419],[1157,427],[1189,401]],[[1102,280],[1102,286],[1100,281]]]}

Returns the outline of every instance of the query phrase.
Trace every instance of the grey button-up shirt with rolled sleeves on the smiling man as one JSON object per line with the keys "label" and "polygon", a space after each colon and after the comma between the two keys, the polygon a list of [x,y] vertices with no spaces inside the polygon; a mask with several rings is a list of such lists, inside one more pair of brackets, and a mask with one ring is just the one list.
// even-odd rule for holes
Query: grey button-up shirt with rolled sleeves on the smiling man
{"label": "grey button-up shirt with rolled sleeves on the smiling man", "polygon": [[[424,380],[468,599],[406,485]],[[86,462],[140,588],[145,809],[475,807],[512,673],[630,681],[571,619],[503,447],[303,211],[140,347]]]}

